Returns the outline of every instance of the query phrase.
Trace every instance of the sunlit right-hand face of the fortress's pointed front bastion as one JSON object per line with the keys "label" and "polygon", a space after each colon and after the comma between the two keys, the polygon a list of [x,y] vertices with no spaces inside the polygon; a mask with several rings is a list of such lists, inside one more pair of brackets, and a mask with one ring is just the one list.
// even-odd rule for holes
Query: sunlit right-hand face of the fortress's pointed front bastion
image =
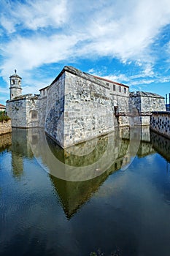
{"label": "sunlit right-hand face of the fortress's pointed front bastion", "polygon": [[110,89],[66,72],[63,147],[115,129]]}

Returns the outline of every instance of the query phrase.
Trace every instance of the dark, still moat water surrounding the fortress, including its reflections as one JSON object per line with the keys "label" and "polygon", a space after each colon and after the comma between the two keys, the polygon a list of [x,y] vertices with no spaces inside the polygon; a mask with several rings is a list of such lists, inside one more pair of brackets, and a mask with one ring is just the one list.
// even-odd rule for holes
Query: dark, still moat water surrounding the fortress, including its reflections
{"label": "dark, still moat water surrounding the fortress, including its reflections", "polygon": [[[133,160],[133,161],[132,161]],[[0,255],[170,255],[170,140],[127,129],[67,151],[0,137]]]}

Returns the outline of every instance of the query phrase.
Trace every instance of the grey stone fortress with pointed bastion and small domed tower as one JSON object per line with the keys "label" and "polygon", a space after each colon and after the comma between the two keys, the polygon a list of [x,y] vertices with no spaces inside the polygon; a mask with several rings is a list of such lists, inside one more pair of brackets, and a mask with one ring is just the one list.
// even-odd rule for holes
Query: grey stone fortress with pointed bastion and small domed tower
{"label": "grey stone fortress with pointed bastion and small domed tower", "polygon": [[10,76],[7,115],[12,127],[43,127],[62,148],[112,132],[115,127],[149,125],[152,111],[165,111],[164,98],[129,92],[122,83],[64,67],[40,94],[22,95],[21,79]]}

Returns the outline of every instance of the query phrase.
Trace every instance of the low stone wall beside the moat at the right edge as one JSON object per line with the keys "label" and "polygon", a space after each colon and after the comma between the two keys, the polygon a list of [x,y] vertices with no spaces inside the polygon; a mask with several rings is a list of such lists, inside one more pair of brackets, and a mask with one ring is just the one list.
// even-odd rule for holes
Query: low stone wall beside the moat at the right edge
{"label": "low stone wall beside the moat at the right edge", "polygon": [[150,118],[150,129],[170,138],[170,112],[153,112]]}

